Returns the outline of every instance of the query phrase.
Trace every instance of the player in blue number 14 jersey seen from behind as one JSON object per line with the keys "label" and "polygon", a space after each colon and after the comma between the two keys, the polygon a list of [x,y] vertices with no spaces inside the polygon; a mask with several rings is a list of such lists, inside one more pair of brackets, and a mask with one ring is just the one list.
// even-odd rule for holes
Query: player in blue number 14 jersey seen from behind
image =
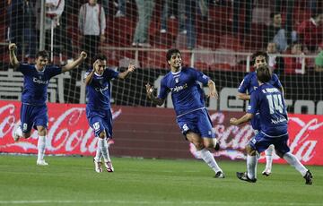
{"label": "player in blue number 14 jersey seen from behind", "polygon": [[247,150],[247,172],[237,172],[240,180],[250,183],[257,181],[257,154],[266,150],[270,144],[275,145],[275,152],[285,159],[292,167],[301,173],[305,178],[305,184],[312,184],[310,170],[304,167],[300,160],[290,152],[287,145],[287,111],[284,103],[283,93],[275,88],[270,81],[272,73],[267,65],[262,65],[257,69],[258,89],[251,94],[251,103],[246,115],[239,119],[231,118],[230,123],[238,125],[251,120],[257,113],[260,117],[261,130],[253,137],[246,147]]}

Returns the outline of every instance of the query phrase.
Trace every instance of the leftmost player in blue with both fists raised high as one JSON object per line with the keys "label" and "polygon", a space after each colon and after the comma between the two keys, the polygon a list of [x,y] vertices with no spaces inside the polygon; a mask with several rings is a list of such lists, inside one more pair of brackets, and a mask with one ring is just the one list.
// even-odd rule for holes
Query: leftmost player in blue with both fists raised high
{"label": "leftmost player in blue with both fists raised high", "polygon": [[37,129],[38,139],[38,159],[37,165],[47,166],[44,160],[46,149],[46,135],[48,128],[48,107],[46,105],[48,95],[48,83],[50,78],[70,71],[76,68],[86,58],[86,53],[81,52],[78,59],[63,67],[48,66],[47,51],[39,51],[36,56],[36,64],[21,64],[16,55],[17,46],[12,43],[9,45],[10,64],[17,71],[23,74],[22,90],[22,107],[21,122],[22,124],[14,131],[13,139],[18,141],[19,138],[29,138],[31,128]]}

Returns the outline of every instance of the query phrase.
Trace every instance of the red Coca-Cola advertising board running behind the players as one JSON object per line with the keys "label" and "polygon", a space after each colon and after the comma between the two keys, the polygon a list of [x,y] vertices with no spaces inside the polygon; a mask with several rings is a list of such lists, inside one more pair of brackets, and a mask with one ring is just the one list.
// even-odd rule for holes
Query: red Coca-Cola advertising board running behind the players
{"label": "red Coca-Cola advertising board running behind the players", "polygon": [[[20,124],[17,101],[0,101],[0,152],[37,153],[37,131],[29,139],[13,141],[13,131]],[[192,159],[189,144],[179,131],[171,108],[124,107],[112,109],[112,156]],[[245,147],[253,136],[249,124],[233,126],[231,117],[242,112],[210,111],[221,150],[217,159],[245,159]],[[95,154],[97,139],[89,127],[83,104],[48,103],[47,154]],[[323,116],[289,115],[289,145],[293,154],[306,165],[323,165]],[[274,156],[275,162],[285,163]],[[264,154],[260,162],[264,162]]]}

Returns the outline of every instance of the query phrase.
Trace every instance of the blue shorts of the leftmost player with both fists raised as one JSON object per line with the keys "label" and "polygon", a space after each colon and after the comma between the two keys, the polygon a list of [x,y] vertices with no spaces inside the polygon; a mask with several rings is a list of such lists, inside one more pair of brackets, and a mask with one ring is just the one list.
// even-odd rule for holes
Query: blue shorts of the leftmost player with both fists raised
{"label": "blue shorts of the leftmost player with both fists raised", "polygon": [[22,103],[21,107],[22,133],[31,132],[37,126],[48,128],[48,107],[46,105],[34,106]]}

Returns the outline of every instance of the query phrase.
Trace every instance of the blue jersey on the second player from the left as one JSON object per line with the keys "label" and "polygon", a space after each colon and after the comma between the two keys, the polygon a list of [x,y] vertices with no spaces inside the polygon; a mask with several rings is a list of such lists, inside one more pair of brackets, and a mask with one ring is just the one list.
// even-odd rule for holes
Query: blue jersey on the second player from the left
{"label": "blue jersey on the second player from the left", "polygon": [[[84,74],[84,79],[92,68]],[[93,74],[92,82],[86,86],[86,108],[89,110],[110,109],[110,81],[118,77],[118,72],[107,68],[101,76]]]}

